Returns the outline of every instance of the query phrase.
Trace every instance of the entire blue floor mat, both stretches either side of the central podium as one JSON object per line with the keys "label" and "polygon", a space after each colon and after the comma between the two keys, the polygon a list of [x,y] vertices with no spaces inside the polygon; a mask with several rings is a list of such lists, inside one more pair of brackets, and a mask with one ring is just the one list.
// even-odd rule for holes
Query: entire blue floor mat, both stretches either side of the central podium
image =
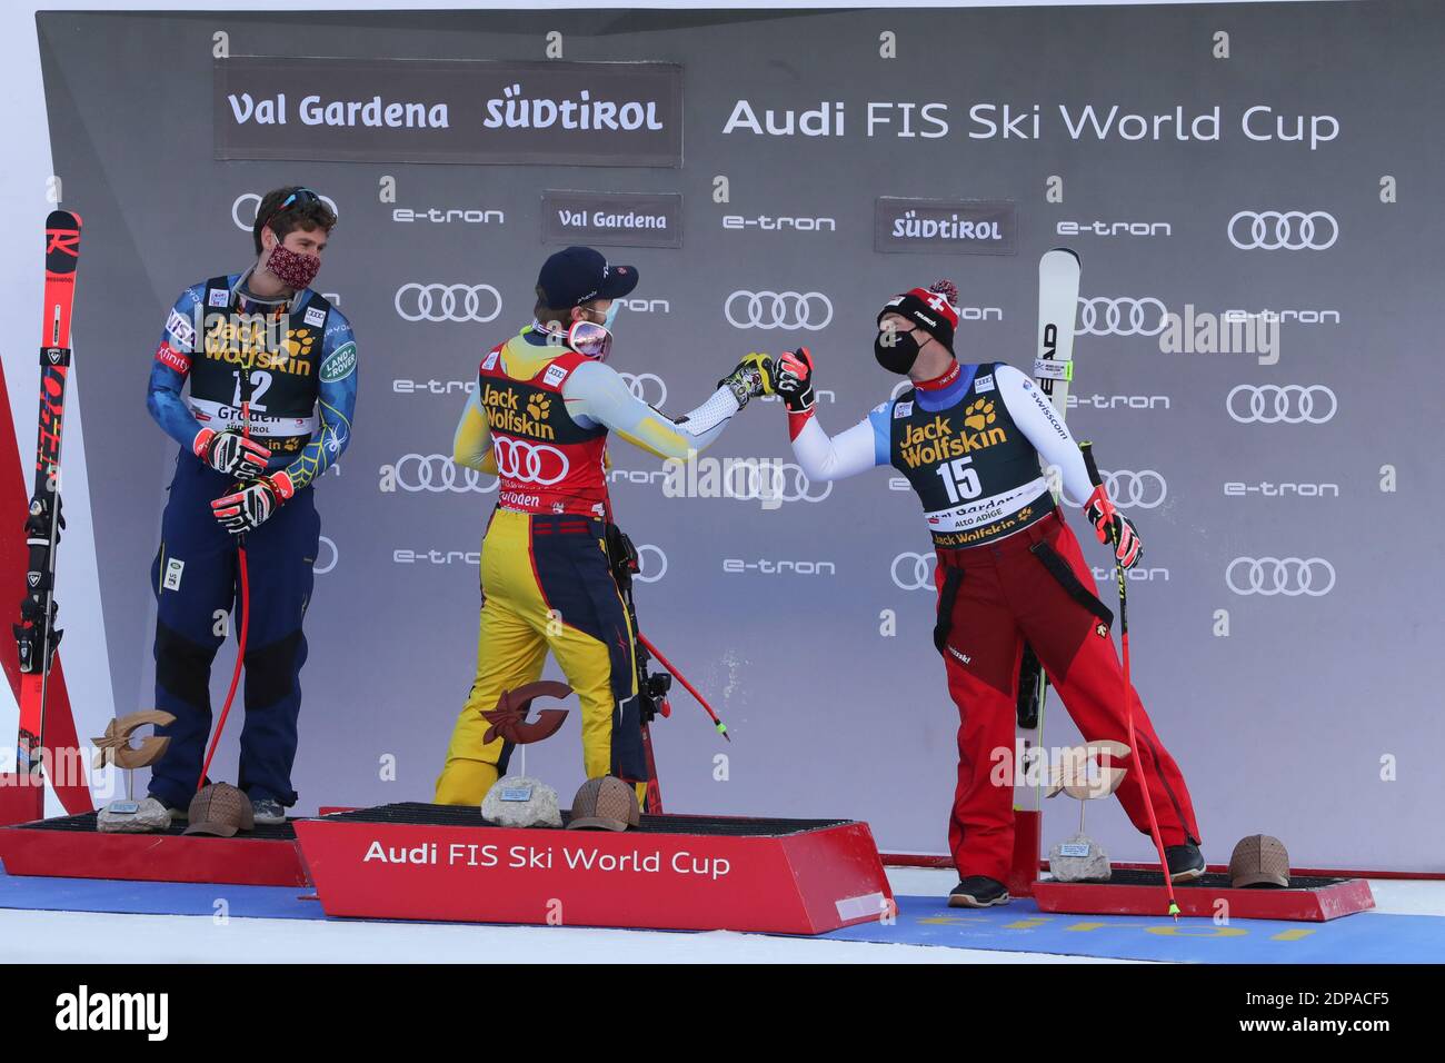
{"label": "entire blue floor mat, both stretches either side of the central podium", "polygon": [[[0,874],[0,908],[137,915],[325,918],[306,887],[121,882]],[[1039,952],[1176,963],[1441,963],[1445,917],[1361,913],[1329,923],[1211,920],[1040,913],[1030,900],[1003,908],[949,908],[938,897],[899,897],[897,921],[863,923],[822,937],[948,949]]]}

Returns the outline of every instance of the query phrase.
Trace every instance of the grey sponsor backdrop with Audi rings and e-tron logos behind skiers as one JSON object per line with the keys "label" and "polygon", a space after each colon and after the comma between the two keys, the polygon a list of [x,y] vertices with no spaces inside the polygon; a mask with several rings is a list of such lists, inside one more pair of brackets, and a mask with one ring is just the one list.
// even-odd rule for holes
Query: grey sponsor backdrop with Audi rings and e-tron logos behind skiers
{"label": "grey sponsor backdrop with Audi rings and e-tron logos behind skiers", "polygon": [[[961,353],[1026,364],[1038,257],[1074,246],[1084,305],[1069,422],[1097,441],[1147,544],[1131,584],[1134,675],[1191,781],[1207,853],[1227,859],[1264,832],[1300,865],[1445,869],[1431,673],[1445,633],[1442,477],[1426,434],[1442,370],[1420,354],[1439,296],[1438,4],[56,13],[39,29],[56,166],[87,223],[77,334],[107,340],[87,344],[77,372],[117,707],[152,703],[146,567],[175,453],[144,412],[143,380],[176,292],[247,262],[238,197],[299,181],[334,198],[319,286],[341,296],[361,354],[355,440],[318,486],[332,547],[308,623],[305,810],[431,793],[471,677],[468,551],[494,482],[422,458],[447,454],[478,356],[527,318],[549,250],[539,192],[681,192],[681,250],[610,252],[643,278],[614,364],[673,412],[747,350],[808,343],[819,419],[854,424],[894,383],[868,353],[877,307],[938,276],[962,292]],[[218,162],[218,30],[237,55],[410,59],[540,59],[562,30],[566,59],[676,62],[686,165]],[[880,56],[886,32],[897,59]],[[925,104],[941,104],[926,114],[946,135],[920,135],[938,132]],[[1101,124],[1120,108],[1103,136],[1090,104]],[[819,121],[799,116],[819,108],[829,135],[803,135]],[[1165,116],[1157,136],[1153,116]],[[1386,176],[1399,202],[1381,201]],[[394,202],[379,198],[387,178]],[[1055,178],[1062,201],[1048,198]],[[1013,201],[1017,255],[876,253],[880,195]],[[724,227],[727,215],[757,224]],[[1328,247],[1256,246],[1276,242]],[[441,286],[434,317],[473,307],[477,320],[409,320],[426,312],[406,285]],[[475,298],[457,288],[448,304],[452,285]],[[1162,353],[1160,315],[1186,307],[1283,314],[1277,363]],[[712,453],[786,460],[782,411],[749,408]],[[656,461],[624,444],[613,457],[617,512],[660,574],[639,589],[643,626],[736,738],[722,746],[676,699],[656,729],[669,807],[855,816],[887,849],[942,850],[958,720],[928,638],[932,594],[905,589],[926,576],[928,535],[896,477],[799,482],[796,499],[764,509],[668,499]],[[379,489],[389,469],[405,489]],[[1107,555],[1085,548],[1107,597]],[[884,610],[893,636],[880,633]],[[228,668],[223,654],[217,694]],[[1056,703],[1048,726],[1051,745],[1075,738]],[[577,733],[574,719],[529,756],[564,794],[581,781]],[[1051,807],[1046,837],[1072,817]],[[1147,855],[1117,807],[1090,823],[1116,856]]]}

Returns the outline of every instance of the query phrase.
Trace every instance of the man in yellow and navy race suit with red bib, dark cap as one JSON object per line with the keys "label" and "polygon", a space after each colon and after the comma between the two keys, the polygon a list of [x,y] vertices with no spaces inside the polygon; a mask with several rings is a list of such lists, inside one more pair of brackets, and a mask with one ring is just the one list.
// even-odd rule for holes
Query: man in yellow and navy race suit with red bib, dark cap
{"label": "man in yellow and navy race suit with red bib, dark cap", "polygon": [[438,804],[480,804],[506,774],[510,743],[483,740],[481,713],[501,691],[535,683],[548,649],[581,703],[587,777],[617,775],[644,798],[634,632],[605,548],[607,432],[685,460],[770,390],[772,363],[747,356],[707,402],[669,418],[603,364],[616,299],[636,286],[634,268],[611,266],[591,247],[558,252],[538,278],[536,320],[477,372],[452,458],[497,474],[497,508],[481,544],[477,675],[436,780]]}

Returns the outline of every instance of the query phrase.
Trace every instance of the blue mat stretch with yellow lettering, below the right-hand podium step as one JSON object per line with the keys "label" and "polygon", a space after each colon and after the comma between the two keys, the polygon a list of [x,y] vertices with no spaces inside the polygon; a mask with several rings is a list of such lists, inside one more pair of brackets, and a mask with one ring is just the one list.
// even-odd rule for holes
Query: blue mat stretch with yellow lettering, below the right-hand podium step
{"label": "blue mat stretch with yellow lettering, below the right-hand podium step", "polygon": [[1445,917],[1360,913],[1329,923],[1237,918],[1065,915],[1032,900],[1001,908],[949,908],[939,897],[899,897],[892,926],[824,934],[838,942],[933,944],[1176,963],[1441,963]]}

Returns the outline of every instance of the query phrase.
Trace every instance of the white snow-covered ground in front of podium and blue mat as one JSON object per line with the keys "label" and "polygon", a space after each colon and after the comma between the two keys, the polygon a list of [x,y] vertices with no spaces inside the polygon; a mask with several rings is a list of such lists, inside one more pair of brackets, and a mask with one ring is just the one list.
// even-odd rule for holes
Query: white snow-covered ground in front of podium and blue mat
{"label": "white snow-covered ground in front of podium and blue mat", "polygon": [[[892,869],[900,895],[942,895],[949,872]],[[1371,881],[1379,911],[1445,915],[1445,882]],[[1370,918],[1363,915],[1361,918]],[[361,923],[0,910],[9,963],[1101,963],[1081,956],[759,934]]]}

